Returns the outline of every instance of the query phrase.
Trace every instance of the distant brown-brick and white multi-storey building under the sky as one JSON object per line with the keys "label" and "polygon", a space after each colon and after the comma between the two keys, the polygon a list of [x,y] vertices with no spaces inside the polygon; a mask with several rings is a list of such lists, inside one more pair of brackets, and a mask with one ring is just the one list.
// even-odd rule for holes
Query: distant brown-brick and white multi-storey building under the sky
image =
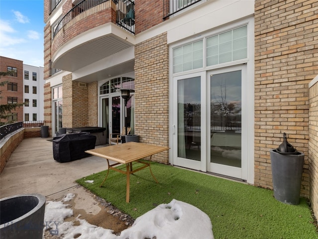
{"label": "distant brown-brick and white multi-storey building under the sky", "polygon": [[1,104],[25,103],[8,113],[7,121],[39,121],[44,120],[44,68],[23,64],[0,56],[1,72],[11,71],[11,76],[1,76],[1,82],[8,83],[1,87]]}

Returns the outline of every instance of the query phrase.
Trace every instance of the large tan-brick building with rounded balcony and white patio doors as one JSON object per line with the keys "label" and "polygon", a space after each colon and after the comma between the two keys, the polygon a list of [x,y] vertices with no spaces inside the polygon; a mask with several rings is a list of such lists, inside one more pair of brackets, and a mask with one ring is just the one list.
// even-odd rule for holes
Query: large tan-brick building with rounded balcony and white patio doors
{"label": "large tan-brick building with rounded balcony and white patio doors", "polygon": [[[318,213],[318,4],[265,0],[45,0],[45,121],[124,126],[169,146],[155,160],[272,189],[269,150],[305,153]],[[316,125],[316,126],[315,126]],[[316,146],[315,146],[316,145]]]}

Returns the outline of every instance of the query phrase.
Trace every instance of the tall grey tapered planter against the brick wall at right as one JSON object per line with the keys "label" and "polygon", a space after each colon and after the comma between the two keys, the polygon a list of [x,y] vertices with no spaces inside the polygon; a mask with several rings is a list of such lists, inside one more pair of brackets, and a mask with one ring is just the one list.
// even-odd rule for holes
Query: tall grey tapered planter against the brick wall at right
{"label": "tall grey tapered planter against the brick wall at right", "polygon": [[291,205],[299,204],[304,157],[301,152],[281,154],[276,149],[270,150],[276,200]]}

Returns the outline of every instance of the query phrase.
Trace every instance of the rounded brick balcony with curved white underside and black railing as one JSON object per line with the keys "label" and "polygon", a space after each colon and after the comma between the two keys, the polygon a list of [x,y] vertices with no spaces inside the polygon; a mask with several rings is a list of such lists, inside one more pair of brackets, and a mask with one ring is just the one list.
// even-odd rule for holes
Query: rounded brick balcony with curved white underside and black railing
{"label": "rounded brick balcony with curved white underside and black railing", "polygon": [[134,16],[132,0],[80,1],[52,29],[50,67],[86,83],[132,72]]}

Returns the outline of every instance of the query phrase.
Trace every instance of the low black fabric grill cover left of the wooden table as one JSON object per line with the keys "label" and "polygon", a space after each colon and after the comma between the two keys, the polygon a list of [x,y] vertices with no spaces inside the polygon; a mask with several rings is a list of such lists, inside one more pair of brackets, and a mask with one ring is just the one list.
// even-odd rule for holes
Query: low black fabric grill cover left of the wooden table
{"label": "low black fabric grill cover left of the wooden table", "polygon": [[88,132],[63,134],[53,138],[54,160],[64,163],[91,156],[85,150],[95,148],[96,136]]}

